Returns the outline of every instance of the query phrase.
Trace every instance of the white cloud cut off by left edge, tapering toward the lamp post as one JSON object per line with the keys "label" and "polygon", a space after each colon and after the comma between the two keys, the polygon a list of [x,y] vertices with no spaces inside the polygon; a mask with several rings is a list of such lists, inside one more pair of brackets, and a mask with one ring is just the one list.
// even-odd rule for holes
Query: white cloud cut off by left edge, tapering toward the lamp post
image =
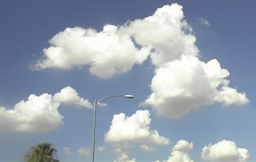
{"label": "white cloud cut off by left edge, tapering toward the lamp post", "polygon": [[63,116],[58,112],[61,103],[91,108],[91,103],[80,98],[71,87],[63,88],[53,97],[47,93],[39,96],[32,94],[27,101],[20,101],[13,109],[0,107],[1,130],[48,132],[57,129],[63,124]]}

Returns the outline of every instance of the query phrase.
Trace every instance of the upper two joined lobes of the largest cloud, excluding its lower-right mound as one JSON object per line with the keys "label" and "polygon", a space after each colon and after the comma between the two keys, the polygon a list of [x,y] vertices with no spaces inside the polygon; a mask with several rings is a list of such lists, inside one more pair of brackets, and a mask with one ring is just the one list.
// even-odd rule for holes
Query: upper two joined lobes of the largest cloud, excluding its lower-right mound
{"label": "upper two joined lobes of the largest cloud, excluding its lower-right mound", "polygon": [[165,5],[153,15],[128,21],[119,28],[105,25],[101,32],[66,28],[49,40],[50,47],[43,49],[45,58],[30,65],[30,69],[90,65],[91,74],[109,78],[127,72],[133,64],[141,64],[149,55],[156,66],[182,54],[197,56],[196,38],[182,9],[178,4]]}

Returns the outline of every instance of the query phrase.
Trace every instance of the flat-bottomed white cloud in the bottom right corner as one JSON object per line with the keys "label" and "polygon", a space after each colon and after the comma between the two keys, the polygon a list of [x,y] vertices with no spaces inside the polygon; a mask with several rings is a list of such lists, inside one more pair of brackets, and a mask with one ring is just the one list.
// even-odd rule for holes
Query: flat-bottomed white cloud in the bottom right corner
{"label": "flat-bottomed white cloud in the bottom right corner", "polygon": [[222,140],[216,144],[209,144],[202,149],[202,160],[210,161],[239,161],[246,162],[250,157],[249,151],[237,148],[233,141]]}

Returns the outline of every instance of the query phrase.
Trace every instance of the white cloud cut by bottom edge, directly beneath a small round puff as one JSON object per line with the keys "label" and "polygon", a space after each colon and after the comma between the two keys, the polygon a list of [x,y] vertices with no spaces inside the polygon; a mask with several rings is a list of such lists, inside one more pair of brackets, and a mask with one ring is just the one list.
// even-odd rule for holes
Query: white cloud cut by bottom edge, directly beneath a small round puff
{"label": "white cloud cut by bottom edge, directly beneath a small round puff", "polygon": [[[160,162],[159,160],[155,162]],[[163,162],[194,162],[194,160],[190,159],[190,155],[188,153],[182,151],[172,151],[171,156],[167,160]]]}

